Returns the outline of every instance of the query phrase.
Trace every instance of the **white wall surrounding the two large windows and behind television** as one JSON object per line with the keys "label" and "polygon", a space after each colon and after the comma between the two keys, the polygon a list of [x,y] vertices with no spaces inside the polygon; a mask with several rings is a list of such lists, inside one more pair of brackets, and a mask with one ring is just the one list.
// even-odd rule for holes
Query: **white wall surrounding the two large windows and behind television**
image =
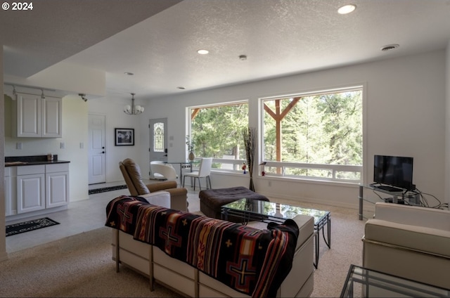
{"label": "white wall surrounding the two large windows and behind television", "polygon": [[[168,118],[174,148],[169,159],[186,156],[186,107],[248,99],[250,125],[257,127],[258,98],[366,84],[365,182],[373,181],[373,155],[414,157],[413,181],[424,193],[444,200],[445,51],[393,58],[332,70],[298,74],[220,89],[184,93],[151,100],[149,118]],[[146,135],[148,143],[148,136]],[[147,162],[141,152],[139,162]],[[255,177],[256,190],[269,197],[357,206],[358,189],[339,183],[319,183]],[[243,176],[212,177],[213,188],[243,183]],[[432,202],[429,199],[430,203]],[[447,197],[446,201],[449,201]]]}

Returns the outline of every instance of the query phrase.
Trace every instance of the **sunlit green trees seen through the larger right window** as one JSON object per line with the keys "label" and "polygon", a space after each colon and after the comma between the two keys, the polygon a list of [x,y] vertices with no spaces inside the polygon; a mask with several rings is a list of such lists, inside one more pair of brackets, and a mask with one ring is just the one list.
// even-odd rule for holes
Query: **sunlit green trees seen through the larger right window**
{"label": "sunlit green trees seen through the larger right window", "polygon": [[[281,111],[291,98],[281,100]],[[264,101],[275,112],[275,100]],[[362,91],[305,96],[281,121],[281,161],[362,164]],[[276,161],[276,121],[264,113],[264,160]],[[322,170],[290,169],[292,174],[328,176]]]}

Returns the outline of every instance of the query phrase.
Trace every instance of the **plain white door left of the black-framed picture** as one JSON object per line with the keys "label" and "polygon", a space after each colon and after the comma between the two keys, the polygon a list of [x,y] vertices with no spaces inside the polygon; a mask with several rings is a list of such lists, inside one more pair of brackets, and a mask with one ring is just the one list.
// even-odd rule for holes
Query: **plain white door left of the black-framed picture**
{"label": "plain white door left of the black-framed picture", "polygon": [[105,115],[89,114],[89,184],[106,182]]}

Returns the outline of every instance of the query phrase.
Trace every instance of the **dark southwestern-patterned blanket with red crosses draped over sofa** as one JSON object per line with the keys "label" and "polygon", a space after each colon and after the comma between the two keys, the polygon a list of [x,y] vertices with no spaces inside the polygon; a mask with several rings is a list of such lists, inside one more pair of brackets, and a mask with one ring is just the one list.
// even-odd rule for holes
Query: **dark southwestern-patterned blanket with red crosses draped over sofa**
{"label": "dark southwestern-patterned blanket with red crosses draped over sofa", "polygon": [[275,297],[292,268],[295,221],[258,230],[149,204],[122,195],[108,203],[105,226],[155,245],[221,283],[252,297]]}

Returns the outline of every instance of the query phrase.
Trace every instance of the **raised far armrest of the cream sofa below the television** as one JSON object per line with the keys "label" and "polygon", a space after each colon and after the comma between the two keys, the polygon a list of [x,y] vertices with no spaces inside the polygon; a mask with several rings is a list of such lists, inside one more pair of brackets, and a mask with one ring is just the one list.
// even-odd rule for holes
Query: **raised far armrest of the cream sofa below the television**
{"label": "raised far armrest of the cream sofa below the television", "polygon": [[377,202],[375,219],[450,231],[450,211]]}

